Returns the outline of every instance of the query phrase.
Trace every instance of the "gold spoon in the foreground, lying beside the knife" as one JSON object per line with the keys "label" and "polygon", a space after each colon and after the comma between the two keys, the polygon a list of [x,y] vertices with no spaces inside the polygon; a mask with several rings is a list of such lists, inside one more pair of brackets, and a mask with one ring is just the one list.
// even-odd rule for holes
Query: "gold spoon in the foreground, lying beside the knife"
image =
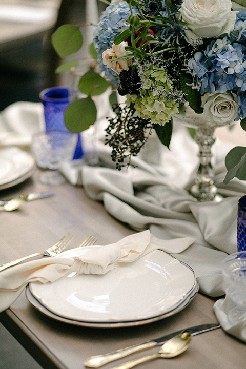
{"label": "gold spoon in the foreground, lying beside the knife", "polygon": [[127,361],[125,364],[115,366],[113,369],[130,369],[135,365],[141,364],[143,362],[154,360],[158,358],[172,358],[182,354],[187,350],[189,343],[191,342],[191,334],[188,332],[181,333],[165,342],[157,354],[152,354],[144,356],[140,359]]}

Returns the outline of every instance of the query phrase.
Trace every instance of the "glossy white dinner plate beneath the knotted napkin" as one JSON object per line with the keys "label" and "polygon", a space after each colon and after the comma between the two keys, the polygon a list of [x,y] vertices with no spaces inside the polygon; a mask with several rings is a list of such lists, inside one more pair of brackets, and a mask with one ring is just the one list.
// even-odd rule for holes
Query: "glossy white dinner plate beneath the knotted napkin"
{"label": "glossy white dinner plate beneath the knotted napkin", "polygon": [[[84,251],[64,255],[78,252]],[[56,316],[122,326],[174,314],[194,297],[197,282],[191,268],[155,250],[132,263],[117,263],[104,275],[72,273],[52,283],[32,282],[30,290]]]}

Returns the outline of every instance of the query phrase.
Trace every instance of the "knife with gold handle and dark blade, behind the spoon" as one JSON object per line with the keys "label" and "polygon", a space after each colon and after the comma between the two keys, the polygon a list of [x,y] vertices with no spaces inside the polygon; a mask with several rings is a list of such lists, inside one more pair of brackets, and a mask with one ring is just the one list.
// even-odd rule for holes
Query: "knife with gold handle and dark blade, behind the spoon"
{"label": "knife with gold handle and dark blade, behind the spoon", "polygon": [[105,364],[108,364],[108,363],[110,363],[114,360],[124,358],[124,357],[126,357],[130,354],[133,354],[133,353],[136,353],[136,352],[139,352],[139,351],[143,351],[143,350],[147,350],[147,348],[162,345],[163,343],[168,341],[170,338],[172,338],[176,335],[179,335],[183,332],[189,332],[192,336],[195,336],[197,334],[204,333],[204,332],[209,332],[209,331],[218,329],[220,327],[221,327],[221,325],[219,323],[196,325],[196,326],[193,326],[193,327],[189,327],[187,329],[182,329],[180,331],[170,333],[168,335],[159,337],[159,338],[151,340],[151,341],[136,344],[136,345],[129,346],[129,347],[126,347],[126,348],[120,348],[119,350],[113,351],[113,352],[108,353],[108,354],[91,356],[88,359],[86,359],[86,361],[84,362],[84,365],[89,367],[89,368],[98,368],[98,367],[103,366]]}

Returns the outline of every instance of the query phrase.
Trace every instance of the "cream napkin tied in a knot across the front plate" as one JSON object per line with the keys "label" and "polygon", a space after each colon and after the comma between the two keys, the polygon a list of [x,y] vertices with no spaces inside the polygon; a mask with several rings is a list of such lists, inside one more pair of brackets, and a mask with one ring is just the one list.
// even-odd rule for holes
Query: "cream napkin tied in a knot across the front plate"
{"label": "cream napkin tied in a knot across the front plate", "polygon": [[15,265],[0,273],[0,312],[9,308],[30,282],[50,283],[68,272],[105,274],[113,268],[116,261],[133,262],[156,249],[181,253],[193,242],[194,239],[190,237],[163,241],[147,230],[105,246],[77,249],[78,254],[73,257],[71,253],[69,256],[68,252],[64,252],[54,257],[43,257]]}

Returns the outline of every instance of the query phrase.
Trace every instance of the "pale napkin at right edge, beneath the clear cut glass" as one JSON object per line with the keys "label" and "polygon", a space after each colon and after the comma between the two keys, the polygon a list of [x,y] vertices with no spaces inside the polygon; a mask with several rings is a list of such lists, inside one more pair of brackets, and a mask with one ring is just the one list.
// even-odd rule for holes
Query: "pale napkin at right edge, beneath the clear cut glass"
{"label": "pale napkin at right edge, beneath the clear cut glass", "polygon": [[222,329],[246,342],[246,319],[233,314],[235,308],[235,303],[228,296],[214,304],[214,312]]}

